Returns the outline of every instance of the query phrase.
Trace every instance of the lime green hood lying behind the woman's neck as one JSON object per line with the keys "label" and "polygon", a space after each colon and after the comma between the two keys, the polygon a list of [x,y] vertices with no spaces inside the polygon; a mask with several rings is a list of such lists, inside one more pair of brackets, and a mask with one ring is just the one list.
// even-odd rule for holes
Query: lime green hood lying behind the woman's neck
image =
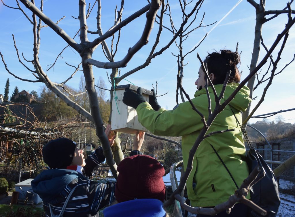
{"label": "lime green hood lying behind the woman's neck", "polygon": [[[214,88],[217,92],[217,95],[219,95],[222,91],[222,84],[214,85]],[[226,86],[226,89],[224,91],[224,100],[229,98],[229,96],[235,91],[235,89],[239,86],[239,83],[228,83]],[[213,93],[212,87],[208,87],[209,93]],[[194,96],[198,97],[200,95],[207,94],[206,89],[202,88],[200,91],[196,91]],[[237,109],[238,111],[246,111],[246,109],[249,106],[249,103],[252,101],[249,97],[250,90],[247,86],[243,86],[240,91],[235,95],[235,98],[233,98],[232,101],[230,101],[230,106]],[[211,100],[214,101],[214,98],[211,97]],[[222,101],[221,103],[223,103]]]}

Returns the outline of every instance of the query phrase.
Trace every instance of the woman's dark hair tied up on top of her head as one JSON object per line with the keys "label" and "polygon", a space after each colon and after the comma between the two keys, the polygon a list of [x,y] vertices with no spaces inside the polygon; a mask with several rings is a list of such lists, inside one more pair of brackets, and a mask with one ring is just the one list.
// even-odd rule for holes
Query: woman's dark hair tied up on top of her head
{"label": "woman's dark hair tied up on top of her head", "polygon": [[208,73],[214,74],[213,84],[223,84],[226,74],[231,70],[231,78],[228,81],[239,83],[241,74],[237,68],[240,63],[240,55],[238,52],[232,52],[231,50],[220,50],[220,52],[210,53],[204,60]]}

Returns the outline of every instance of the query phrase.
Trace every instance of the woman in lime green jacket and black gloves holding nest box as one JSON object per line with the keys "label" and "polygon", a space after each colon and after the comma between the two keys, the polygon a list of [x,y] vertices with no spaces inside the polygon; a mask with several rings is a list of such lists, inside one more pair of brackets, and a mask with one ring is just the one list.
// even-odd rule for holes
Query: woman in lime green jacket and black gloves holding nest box
{"label": "woman in lime green jacket and black gloves holding nest box", "polygon": [[[217,94],[222,91],[226,74],[231,70],[231,78],[224,92],[224,100],[226,100],[240,82],[240,72],[237,68],[240,63],[239,54],[230,50],[213,52],[205,58],[204,63],[207,64],[209,78]],[[204,88],[205,74],[202,67],[199,69],[195,85],[197,91],[192,102],[208,120],[208,98]],[[208,90],[212,99],[211,108],[213,110],[215,108],[214,94],[210,86]],[[150,103],[147,103],[140,92],[140,90],[137,90],[137,93],[135,93],[126,89],[123,102],[136,108],[138,120],[153,134],[182,136],[183,165],[186,169],[189,151],[204,126],[201,117],[192,109],[189,101],[180,103],[171,111],[165,111],[158,105],[155,94],[150,97]],[[217,115],[207,133],[226,129],[234,129],[234,131],[213,134],[200,143],[194,156],[193,170],[186,181],[188,197],[192,206],[214,207],[227,201],[230,195],[235,192],[235,189],[248,177],[248,166],[245,162],[246,150],[237,120],[242,123],[241,111],[245,111],[251,101],[249,93],[249,89],[244,86],[229,105]],[[214,149],[232,177],[219,160]],[[231,215],[227,216],[243,216],[247,211],[242,211],[242,209],[247,210],[247,207],[243,204],[237,204]],[[239,210],[238,215],[235,214],[237,210]],[[219,213],[217,216],[222,216],[224,213]]]}

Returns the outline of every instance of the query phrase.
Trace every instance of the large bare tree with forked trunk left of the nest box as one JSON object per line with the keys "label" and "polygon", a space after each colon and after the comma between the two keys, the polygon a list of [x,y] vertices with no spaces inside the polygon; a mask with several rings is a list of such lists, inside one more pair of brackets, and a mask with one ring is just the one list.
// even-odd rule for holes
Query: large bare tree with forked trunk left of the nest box
{"label": "large bare tree with forked trunk left of the nest box", "polygon": [[[132,58],[132,56],[140,50],[140,48],[148,43],[148,37],[150,35],[151,29],[153,28],[153,22],[155,19],[155,15],[160,7],[160,0],[153,0],[151,1],[150,4],[146,5],[139,11],[135,12],[132,14],[130,17],[125,19],[123,22],[121,22],[121,17],[117,19],[117,22],[112,26],[106,33],[102,34],[93,41],[89,41],[87,37],[87,31],[88,31],[88,26],[86,19],[88,18],[88,15],[90,11],[88,10],[86,14],[86,2],[85,0],[79,1],[79,22],[80,22],[80,42],[77,43],[75,40],[73,40],[69,35],[58,26],[58,22],[53,22],[51,19],[49,19],[44,13],[43,13],[43,0],[41,0],[41,6],[40,9],[35,6],[35,1],[28,1],[28,0],[20,0],[24,6],[26,6],[30,11],[32,11],[32,19],[27,16],[27,14],[24,12],[24,10],[21,8],[19,1],[17,0],[17,5],[18,8],[14,9],[19,9],[22,11],[22,13],[25,15],[25,17],[29,20],[29,22],[33,25],[33,38],[34,38],[34,47],[33,47],[33,60],[29,60],[29,62],[33,63],[34,65],[34,70],[31,70],[29,67],[26,66],[25,63],[20,59],[18,49],[16,46],[15,42],[15,48],[17,52],[17,56],[19,57],[19,62],[27,69],[30,70],[30,72],[33,73],[35,76],[36,80],[28,80],[28,79],[23,79],[15,75],[14,73],[10,72],[9,69],[7,68],[7,65],[4,61],[3,55],[0,53],[2,61],[5,65],[6,70],[8,73],[12,74],[14,77],[19,78],[20,80],[24,81],[29,81],[29,82],[42,82],[45,83],[47,88],[50,88],[51,91],[53,91],[58,97],[63,99],[68,106],[71,106],[72,108],[76,109],[80,114],[82,114],[84,117],[92,121],[95,125],[96,128],[96,135],[99,137],[101,140],[103,149],[104,149],[104,154],[106,156],[106,160],[111,168],[111,171],[114,175],[114,177],[117,177],[117,165],[114,162],[114,159],[112,157],[112,152],[109,147],[109,141],[108,138],[106,137],[103,129],[103,122],[101,119],[101,116],[99,114],[99,102],[97,98],[97,93],[95,90],[95,83],[94,83],[94,75],[93,75],[93,70],[92,70],[92,65],[99,67],[99,68],[111,68],[114,70],[117,70],[119,67],[124,67],[127,65],[129,60]],[[3,3],[3,1],[2,1]],[[3,3],[4,4],[4,3]],[[122,1],[122,8],[123,8],[124,1]],[[5,5],[5,4],[4,4]],[[7,6],[7,5],[5,5]],[[13,8],[13,7],[11,7]],[[98,11],[100,10],[100,5],[98,7]],[[122,10],[121,10],[122,11]],[[148,12],[147,12],[148,11]],[[140,40],[135,43],[133,47],[131,47],[126,56],[117,62],[109,62],[109,63],[104,63],[100,62],[98,60],[92,59],[92,53],[94,50],[98,47],[98,45],[102,44],[104,45],[104,40],[106,40],[109,37],[112,37],[116,32],[120,31],[120,29],[125,26],[126,24],[130,23],[132,20],[136,19],[138,16],[141,14],[147,12],[147,19],[146,19],[146,24],[145,27],[143,28],[142,36]],[[37,21],[37,17],[39,17],[39,21]],[[99,14],[98,14],[99,17]],[[62,18],[63,19],[63,18]],[[98,18],[99,19],[99,18]],[[42,25],[42,22],[44,22],[46,25]],[[98,22],[99,23],[99,22]],[[74,50],[76,50],[79,55],[81,56],[81,65],[83,69],[83,74],[85,78],[85,89],[88,93],[89,96],[89,103],[90,103],[90,110],[91,112],[89,113],[86,111],[83,107],[78,105],[76,102],[72,101],[68,96],[66,96],[58,86],[63,87],[63,84],[66,83],[73,75],[71,75],[67,80],[65,80],[62,83],[55,83],[50,80],[50,78],[47,76],[46,72],[43,70],[40,62],[39,62],[39,50],[40,50],[40,31],[43,27],[50,27],[53,29],[53,31],[56,32],[65,42],[68,43],[69,46],[71,46]],[[98,31],[99,31],[99,26],[98,26]],[[114,53],[113,53],[114,55]],[[26,60],[26,59],[24,59]],[[78,67],[77,67],[78,68]],[[77,69],[76,69],[77,70]],[[74,73],[73,73],[74,74]],[[114,75],[116,75],[114,73]],[[122,151],[121,151],[122,152]]]}

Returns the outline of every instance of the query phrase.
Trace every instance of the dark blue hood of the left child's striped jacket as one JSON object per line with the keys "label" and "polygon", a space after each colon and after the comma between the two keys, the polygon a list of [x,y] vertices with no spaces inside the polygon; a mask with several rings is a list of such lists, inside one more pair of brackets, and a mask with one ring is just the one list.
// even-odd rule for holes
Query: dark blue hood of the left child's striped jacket
{"label": "dark blue hood of the left child's striped jacket", "polygon": [[74,170],[49,169],[37,175],[31,185],[33,191],[48,203],[55,199],[68,184],[81,176],[83,175]]}

